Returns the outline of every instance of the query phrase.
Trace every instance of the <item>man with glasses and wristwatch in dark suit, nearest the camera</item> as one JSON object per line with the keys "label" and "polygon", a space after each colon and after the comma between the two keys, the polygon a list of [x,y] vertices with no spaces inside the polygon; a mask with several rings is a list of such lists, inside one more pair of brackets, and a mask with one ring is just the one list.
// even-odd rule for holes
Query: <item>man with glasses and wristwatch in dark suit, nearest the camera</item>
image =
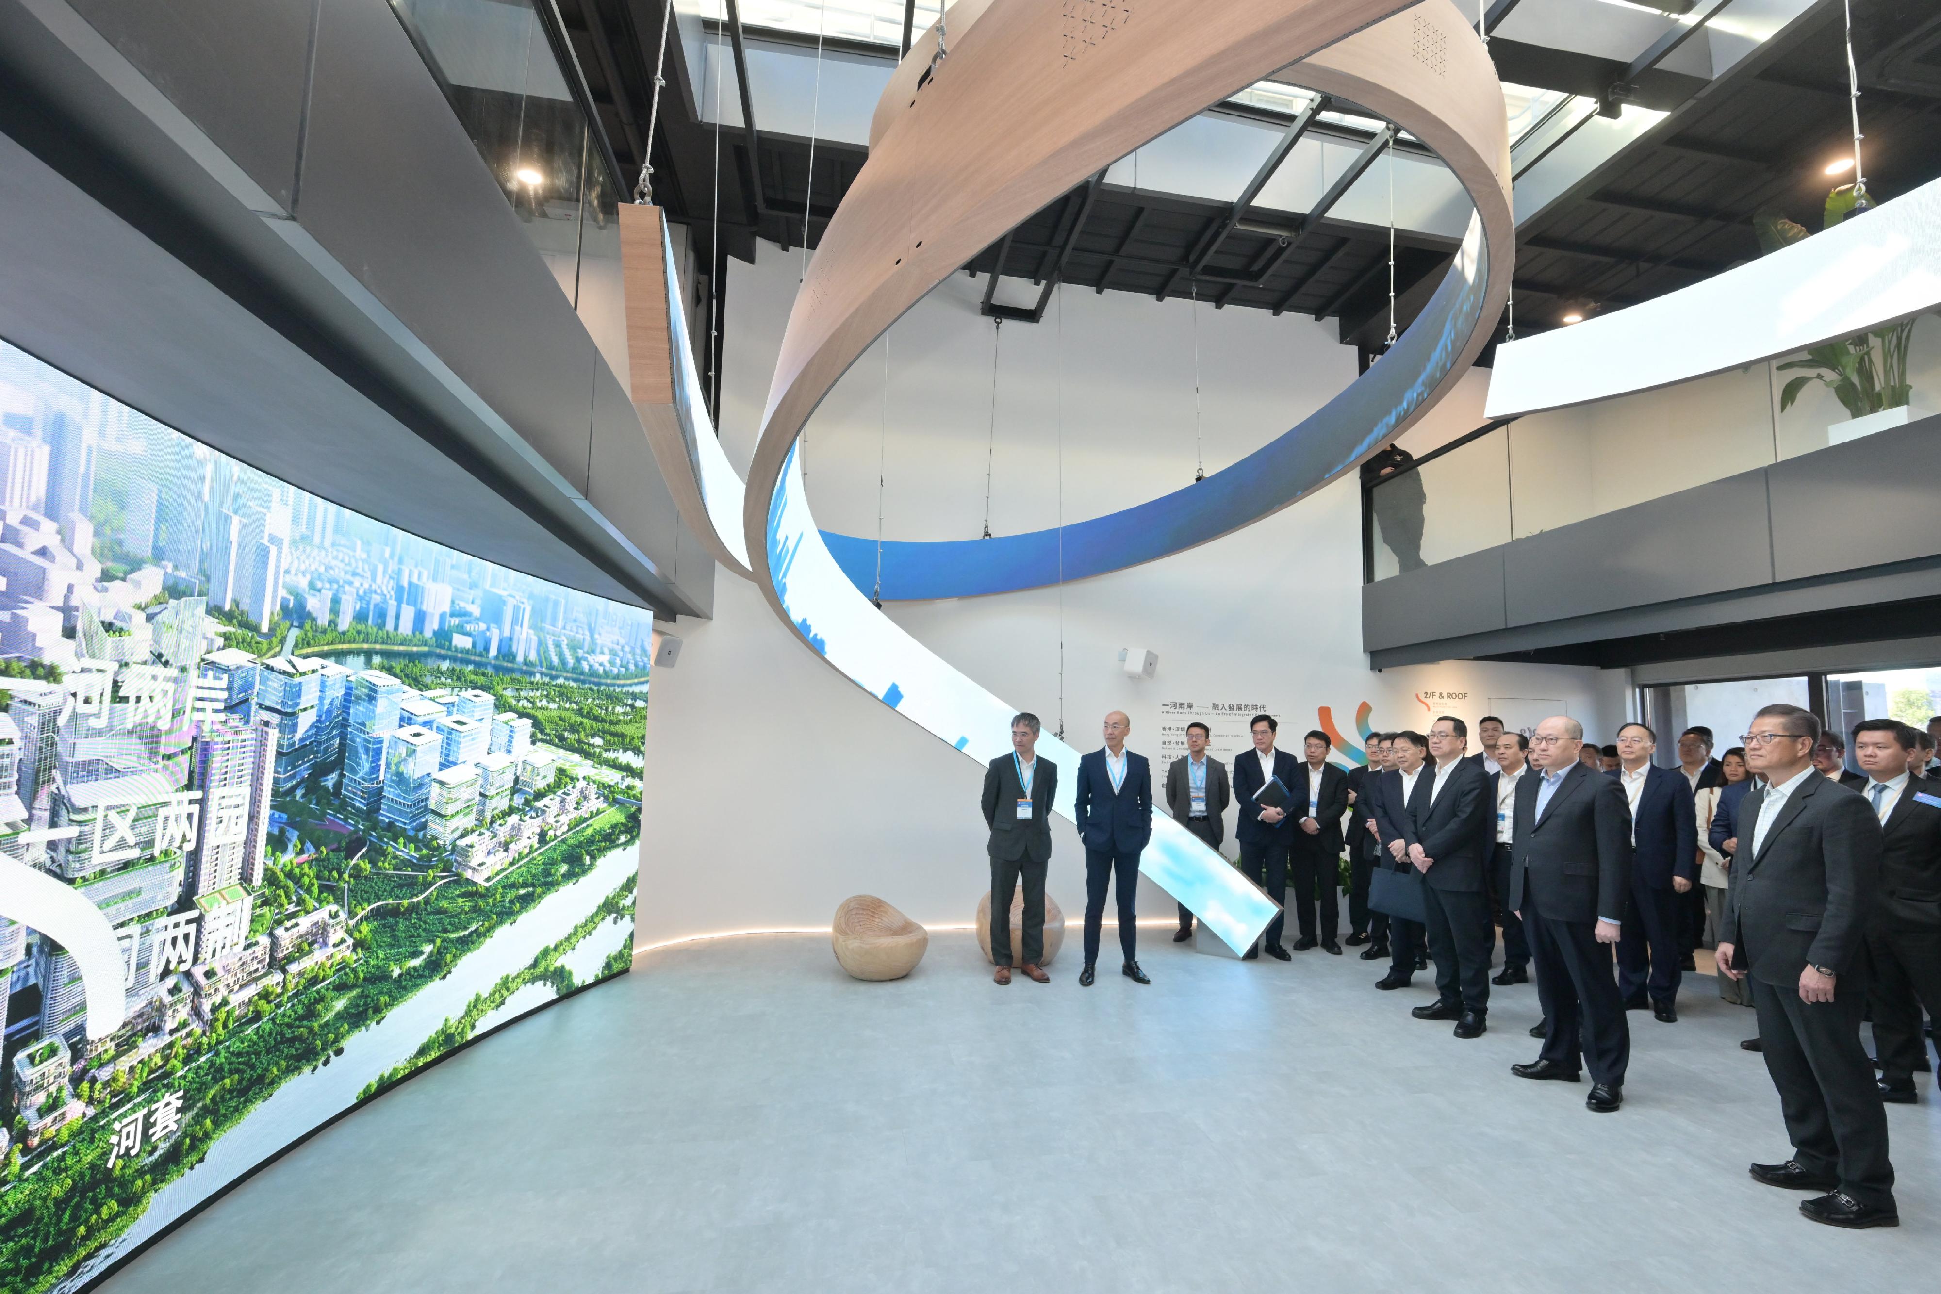
{"label": "man with glasses and wristwatch in dark suit, nearest the camera", "polygon": [[1718,943],[1726,974],[1759,982],[1753,1009],[1766,1073],[1793,1143],[1759,1181],[1826,1191],[1799,1213],[1830,1226],[1898,1226],[1887,1110],[1859,1046],[1867,1007],[1867,918],[1881,889],[1881,821],[1863,795],[1815,764],[1819,720],[1764,706],[1745,762],[1766,776],[1739,811],[1731,904]]}

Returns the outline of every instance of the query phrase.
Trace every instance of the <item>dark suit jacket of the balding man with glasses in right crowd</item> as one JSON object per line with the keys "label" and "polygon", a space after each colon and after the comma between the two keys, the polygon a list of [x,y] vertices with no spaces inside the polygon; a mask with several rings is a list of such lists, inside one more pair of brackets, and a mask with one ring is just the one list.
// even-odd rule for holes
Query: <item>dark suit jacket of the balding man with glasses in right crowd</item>
{"label": "dark suit jacket of the balding man with glasses in right crowd", "polygon": [[1582,762],[1551,792],[1537,819],[1543,772],[1516,784],[1516,830],[1510,844],[1512,910],[1535,898],[1553,922],[1594,925],[1623,918],[1630,894],[1630,809],[1625,788]]}

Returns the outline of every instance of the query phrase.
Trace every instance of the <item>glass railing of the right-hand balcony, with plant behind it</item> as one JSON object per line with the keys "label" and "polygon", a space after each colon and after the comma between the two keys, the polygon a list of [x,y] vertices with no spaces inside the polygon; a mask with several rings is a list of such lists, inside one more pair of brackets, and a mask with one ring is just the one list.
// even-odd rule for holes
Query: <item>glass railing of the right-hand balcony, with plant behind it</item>
{"label": "glass railing of the right-hand balcony, with plant behind it", "polygon": [[[1941,316],[1916,318],[1904,343],[1908,398],[1879,411],[1838,386],[1840,341],[1471,433],[1366,491],[1366,574],[1386,580],[1941,413]],[[1867,345],[1879,386],[1883,341],[1869,334]]]}

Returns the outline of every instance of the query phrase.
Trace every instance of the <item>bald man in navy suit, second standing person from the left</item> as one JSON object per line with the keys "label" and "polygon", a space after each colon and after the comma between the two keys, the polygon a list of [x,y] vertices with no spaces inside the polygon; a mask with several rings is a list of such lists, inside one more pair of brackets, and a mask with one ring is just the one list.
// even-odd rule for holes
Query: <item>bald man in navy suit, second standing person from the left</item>
{"label": "bald man in navy suit, second standing person from the left", "polygon": [[1099,962],[1099,927],[1104,925],[1104,892],[1118,883],[1118,951],[1126,954],[1122,974],[1134,984],[1151,984],[1139,970],[1139,852],[1153,838],[1153,766],[1126,749],[1132,720],[1124,710],[1104,716],[1104,749],[1079,759],[1079,782],[1071,799],[1071,819],[1085,842],[1085,970],[1079,984],[1091,987]]}

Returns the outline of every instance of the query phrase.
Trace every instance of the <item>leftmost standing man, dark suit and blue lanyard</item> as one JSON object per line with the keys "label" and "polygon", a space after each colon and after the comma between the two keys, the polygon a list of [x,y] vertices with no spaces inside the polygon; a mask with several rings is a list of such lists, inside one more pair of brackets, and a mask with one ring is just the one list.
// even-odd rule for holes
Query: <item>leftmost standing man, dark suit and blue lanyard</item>
{"label": "leftmost standing man, dark suit and blue lanyard", "polygon": [[1058,764],[1038,759],[1038,716],[1011,716],[1011,753],[984,770],[984,825],[990,826],[990,960],[998,984],[1011,982],[1011,896],[1025,881],[1025,960],[1029,978],[1048,984],[1044,960],[1044,871],[1052,861],[1052,801]]}

